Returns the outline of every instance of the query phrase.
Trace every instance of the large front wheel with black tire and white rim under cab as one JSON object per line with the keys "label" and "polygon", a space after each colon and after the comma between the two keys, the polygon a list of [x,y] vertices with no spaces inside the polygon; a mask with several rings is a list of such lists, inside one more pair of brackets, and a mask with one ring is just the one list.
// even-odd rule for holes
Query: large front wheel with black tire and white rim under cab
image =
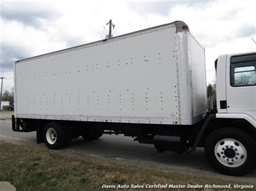
{"label": "large front wheel with black tire and white rim under cab", "polygon": [[255,167],[255,140],[239,129],[224,128],[214,131],[207,139],[205,154],[218,172],[242,176]]}

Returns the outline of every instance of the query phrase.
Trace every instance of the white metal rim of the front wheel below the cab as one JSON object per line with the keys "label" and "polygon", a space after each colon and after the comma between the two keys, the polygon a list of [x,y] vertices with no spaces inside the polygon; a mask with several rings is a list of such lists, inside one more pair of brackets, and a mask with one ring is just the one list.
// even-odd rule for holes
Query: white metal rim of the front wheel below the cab
{"label": "white metal rim of the front wheel below the cab", "polygon": [[235,139],[222,139],[214,149],[216,159],[226,167],[239,167],[247,159],[244,146]]}

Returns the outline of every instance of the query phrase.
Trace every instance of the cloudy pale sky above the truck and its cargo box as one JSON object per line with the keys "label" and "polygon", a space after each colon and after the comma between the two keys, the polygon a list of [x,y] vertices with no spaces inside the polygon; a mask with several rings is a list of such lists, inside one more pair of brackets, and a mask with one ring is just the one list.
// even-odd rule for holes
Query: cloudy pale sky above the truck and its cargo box
{"label": "cloudy pale sky above the truck and its cargo box", "polygon": [[185,22],[206,48],[207,83],[219,55],[256,51],[255,0],[1,1],[0,78],[14,86],[13,62],[161,24]]}

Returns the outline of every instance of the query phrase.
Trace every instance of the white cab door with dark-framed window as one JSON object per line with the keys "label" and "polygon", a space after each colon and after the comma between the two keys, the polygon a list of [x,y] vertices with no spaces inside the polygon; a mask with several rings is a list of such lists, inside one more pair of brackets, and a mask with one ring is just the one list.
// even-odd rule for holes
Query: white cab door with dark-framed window
{"label": "white cab door with dark-framed window", "polygon": [[228,55],[226,62],[230,62],[226,65],[227,113],[244,113],[256,119],[256,52]]}

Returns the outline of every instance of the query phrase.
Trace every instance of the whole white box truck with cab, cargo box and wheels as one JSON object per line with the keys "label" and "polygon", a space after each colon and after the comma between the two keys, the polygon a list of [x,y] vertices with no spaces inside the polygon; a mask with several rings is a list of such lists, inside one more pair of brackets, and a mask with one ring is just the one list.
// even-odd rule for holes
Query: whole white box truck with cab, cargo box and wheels
{"label": "whole white box truck with cab, cargo box and wheels", "polygon": [[124,134],[159,152],[204,147],[223,174],[255,167],[256,52],[220,55],[208,112],[205,50],[172,22],[14,62],[13,131],[50,149]]}

